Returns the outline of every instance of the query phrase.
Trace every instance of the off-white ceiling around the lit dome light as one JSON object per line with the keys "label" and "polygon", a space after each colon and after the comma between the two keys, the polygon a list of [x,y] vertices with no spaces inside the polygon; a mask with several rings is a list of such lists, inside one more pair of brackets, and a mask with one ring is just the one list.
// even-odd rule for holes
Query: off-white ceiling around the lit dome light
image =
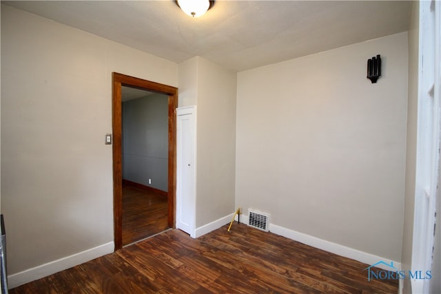
{"label": "off-white ceiling around the lit dome light", "polygon": [[236,72],[404,32],[411,6],[218,0],[192,18],[172,0],[1,2],[175,63],[202,56]]}

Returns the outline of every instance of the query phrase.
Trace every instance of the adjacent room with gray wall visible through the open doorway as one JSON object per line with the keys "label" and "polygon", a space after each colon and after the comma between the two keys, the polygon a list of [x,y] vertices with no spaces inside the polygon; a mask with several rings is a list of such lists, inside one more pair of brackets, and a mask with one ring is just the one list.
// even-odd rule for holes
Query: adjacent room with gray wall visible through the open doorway
{"label": "adjacent room with gray wall visible through the open doorway", "polygon": [[121,87],[123,246],[169,228],[167,98]]}

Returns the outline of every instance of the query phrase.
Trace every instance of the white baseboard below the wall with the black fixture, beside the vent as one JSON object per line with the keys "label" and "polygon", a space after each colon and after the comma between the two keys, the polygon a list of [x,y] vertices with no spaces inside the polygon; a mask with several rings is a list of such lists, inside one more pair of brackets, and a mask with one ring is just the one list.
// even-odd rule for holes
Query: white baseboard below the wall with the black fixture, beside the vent
{"label": "white baseboard below the wall with the black fixture, beside the vent", "polygon": [[[236,217],[237,220],[237,217]],[[244,224],[248,223],[248,216],[240,215],[240,222]],[[394,266],[397,269],[401,269],[401,263],[396,262],[395,260],[389,260],[387,258],[382,258],[377,255],[373,255],[371,253],[366,253],[363,251],[359,251],[357,249],[352,249],[347,246],[343,246],[340,244],[336,244],[334,242],[329,242],[327,240],[322,240],[320,238],[313,237],[311,235],[307,235],[305,233],[300,233],[298,231],[294,231],[291,229],[286,229],[285,227],[280,227],[276,224],[269,224],[269,231],[271,233],[275,233],[276,235],[282,235],[283,237],[289,238],[291,240],[307,244],[309,246],[313,246],[318,249],[325,250],[327,252],[331,252],[345,258],[351,258],[351,260],[357,260],[358,262],[363,262],[365,264],[376,264],[380,260],[390,264],[393,262]],[[389,270],[390,268],[385,266],[384,264],[378,264],[380,269]]]}

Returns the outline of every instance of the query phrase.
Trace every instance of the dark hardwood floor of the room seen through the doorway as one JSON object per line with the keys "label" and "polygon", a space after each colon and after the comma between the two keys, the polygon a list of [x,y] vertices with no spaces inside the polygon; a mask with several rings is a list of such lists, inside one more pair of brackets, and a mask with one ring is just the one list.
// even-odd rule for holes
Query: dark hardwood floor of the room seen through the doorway
{"label": "dark hardwood floor of the room seen through the doorway", "polygon": [[168,229],[167,197],[123,183],[123,246]]}

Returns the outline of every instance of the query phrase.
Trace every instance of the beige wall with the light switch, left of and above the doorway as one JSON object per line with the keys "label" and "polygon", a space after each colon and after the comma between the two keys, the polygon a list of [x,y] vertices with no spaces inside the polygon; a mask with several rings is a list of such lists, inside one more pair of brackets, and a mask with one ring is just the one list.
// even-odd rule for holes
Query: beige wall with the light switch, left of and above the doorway
{"label": "beige wall with the light switch, left of and above the doorway", "polygon": [[112,72],[178,81],[176,63],[1,6],[9,274],[113,242]]}

